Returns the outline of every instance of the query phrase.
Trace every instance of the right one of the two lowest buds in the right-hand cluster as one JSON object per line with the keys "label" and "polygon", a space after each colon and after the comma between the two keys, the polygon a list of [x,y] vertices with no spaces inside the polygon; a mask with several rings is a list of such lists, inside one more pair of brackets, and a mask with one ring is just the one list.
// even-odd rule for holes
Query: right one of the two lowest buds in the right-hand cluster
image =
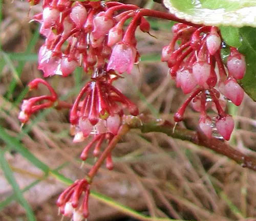
{"label": "right one of the two lowest buds in the right-hand cluster", "polygon": [[220,135],[225,139],[229,140],[231,133],[234,129],[234,120],[232,116],[221,117],[216,121],[216,128]]}

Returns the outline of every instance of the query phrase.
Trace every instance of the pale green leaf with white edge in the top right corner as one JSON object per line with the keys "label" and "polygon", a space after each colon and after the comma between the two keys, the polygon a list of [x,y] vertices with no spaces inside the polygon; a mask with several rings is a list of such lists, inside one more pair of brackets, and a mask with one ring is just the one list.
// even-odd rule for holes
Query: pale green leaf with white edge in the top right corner
{"label": "pale green leaf with white edge in the top right corner", "polygon": [[256,27],[256,1],[253,0],[163,0],[178,18],[195,24]]}

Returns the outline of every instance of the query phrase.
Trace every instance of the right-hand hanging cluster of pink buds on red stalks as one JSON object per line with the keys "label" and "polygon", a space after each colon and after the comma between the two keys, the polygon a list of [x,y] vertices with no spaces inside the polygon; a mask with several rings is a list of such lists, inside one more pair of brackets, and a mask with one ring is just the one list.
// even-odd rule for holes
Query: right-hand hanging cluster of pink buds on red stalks
{"label": "right-hand hanging cluster of pink buds on red stalks", "polygon": [[[218,113],[215,126],[219,134],[229,140],[234,121],[225,111],[226,101],[239,106],[244,91],[237,80],[245,74],[245,58],[237,49],[230,47],[226,67],[221,58],[223,41],[220,30],[214,26],[195,28],[184,24],[173,26],[174,38],[162,50],[162,61],[167,62],[169,73],[189,98],[175,114],[175,121],[183,120],[185,108],[189,103],[200,112],[199,126],[211,138],[212,119],[206,109],[211,107]],[[180,40],[178,49],[175,49]]]}

